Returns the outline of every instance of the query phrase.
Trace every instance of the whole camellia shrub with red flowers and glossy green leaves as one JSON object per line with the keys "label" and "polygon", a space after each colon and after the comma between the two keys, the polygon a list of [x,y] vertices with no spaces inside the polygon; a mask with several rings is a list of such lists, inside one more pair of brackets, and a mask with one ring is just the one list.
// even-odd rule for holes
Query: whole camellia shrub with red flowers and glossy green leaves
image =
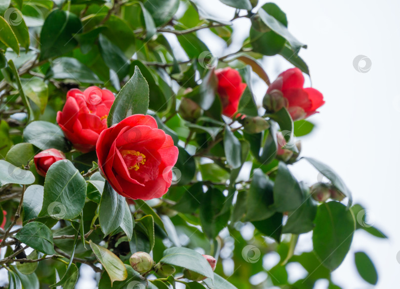
{"label": "whole camellia shrub with red flowers and glossy green leaves", "polygon": [[[75,288],[86,266],[99,289],[336,289],[354,232],[386,238],[301,155],[324,100],[285,13],[220,1],[230,21],[201,1],[1,1],[0,287]],[[238,51],[210,53],[198,31],[230,46],[239,18]],[[293,68],[270,81],[274,55]],[[292,175],[298,161],[316,183]],[[302,234],[312,251],[295,251]],[[355,261],[376,284],[369,257]],[[307,272],[294,284],[292,263]]]}

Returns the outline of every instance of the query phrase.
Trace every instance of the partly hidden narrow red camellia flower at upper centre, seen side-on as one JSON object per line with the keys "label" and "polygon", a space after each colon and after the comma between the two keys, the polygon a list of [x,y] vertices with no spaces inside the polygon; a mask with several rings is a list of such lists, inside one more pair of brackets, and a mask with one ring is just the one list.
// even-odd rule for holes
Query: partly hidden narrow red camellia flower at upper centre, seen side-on
{"label": "partly hidden narrow red camellia flower at upper centre, seen side-on", "polygon": [[232,117],[237,111],[239,100],[246,84],[241,82],[237,70],[230,67],[215,72],[218,78],[218,94],[222,103],[222,114]]}

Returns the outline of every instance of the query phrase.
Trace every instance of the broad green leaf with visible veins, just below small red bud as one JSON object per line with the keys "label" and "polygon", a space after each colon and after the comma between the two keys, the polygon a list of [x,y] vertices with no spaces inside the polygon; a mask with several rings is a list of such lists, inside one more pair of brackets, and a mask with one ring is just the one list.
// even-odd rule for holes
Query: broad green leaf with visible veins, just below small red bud
{"label": "broad green leaf with visible veins, just below small red bud", "polygon": [[44,182],[40,217],[73,219],[80,215],[86,199],[86,181],[69,160],[51,165]]}

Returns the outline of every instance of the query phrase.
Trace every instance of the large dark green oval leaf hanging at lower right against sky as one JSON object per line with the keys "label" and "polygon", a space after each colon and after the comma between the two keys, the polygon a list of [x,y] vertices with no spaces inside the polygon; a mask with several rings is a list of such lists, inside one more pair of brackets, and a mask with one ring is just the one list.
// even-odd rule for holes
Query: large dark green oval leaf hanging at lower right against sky
{"label": "large dark green oval leaf hanging at lower right against sky", "polygon": [[350,249],[356,229],[354,216],[345,205],[331,201],[318,207],[314,222],[314,252],[322,265],[334,270]]}

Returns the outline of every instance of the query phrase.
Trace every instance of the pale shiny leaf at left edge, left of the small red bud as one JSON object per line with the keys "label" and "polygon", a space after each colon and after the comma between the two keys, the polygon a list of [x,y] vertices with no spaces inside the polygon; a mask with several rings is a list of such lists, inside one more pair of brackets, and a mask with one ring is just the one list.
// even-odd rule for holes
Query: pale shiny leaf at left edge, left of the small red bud
{"label": "pale shiny leaf at left edge, left of the small red bud", "polygon": [[0,172],[0,186],[8,183],[30,184],[35,181],[30,171],[20,169],[4,160],[0,160]]}

